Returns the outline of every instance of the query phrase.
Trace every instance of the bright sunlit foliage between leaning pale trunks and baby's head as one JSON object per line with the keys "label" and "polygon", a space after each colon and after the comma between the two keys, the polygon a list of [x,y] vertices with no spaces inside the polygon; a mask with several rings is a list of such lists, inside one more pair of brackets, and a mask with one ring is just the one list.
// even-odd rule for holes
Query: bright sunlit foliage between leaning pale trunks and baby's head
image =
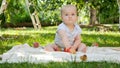
{"label": "bright sunlit foliage between leaning pale trunks and baby's head", "polygon": [[75,0],[31,0],[32,8],[31,12],[34,12],[33,8],[36,9],[40,16],[42,24],[55,25],[61,23],[60,19],[60,8],[65,4],[74,4],[80,11],[82,1]]}

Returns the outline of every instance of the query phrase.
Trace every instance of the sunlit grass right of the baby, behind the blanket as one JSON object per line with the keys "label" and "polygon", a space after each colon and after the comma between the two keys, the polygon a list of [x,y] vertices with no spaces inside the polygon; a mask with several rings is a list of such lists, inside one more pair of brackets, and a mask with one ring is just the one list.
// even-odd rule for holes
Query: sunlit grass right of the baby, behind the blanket
{"label": "sunlit grass right of the baby, behind the blanket", "polygon": [[83,31],[83,42],[91,46],[93,42],[97,42],[100,46],[120,46],[120,33],[119,32],[95,32]]}

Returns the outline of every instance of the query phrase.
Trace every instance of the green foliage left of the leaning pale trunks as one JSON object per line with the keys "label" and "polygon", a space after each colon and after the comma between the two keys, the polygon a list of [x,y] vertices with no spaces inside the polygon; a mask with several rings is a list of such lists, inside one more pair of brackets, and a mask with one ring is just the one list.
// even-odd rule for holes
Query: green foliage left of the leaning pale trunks
{"label": "green foliage left of the leaning pale trunks", "polygon": [[9,0],[9,4],[6,10],[6,22],[21,23],[30,21],[29,14],[25,10],[24,0]]}

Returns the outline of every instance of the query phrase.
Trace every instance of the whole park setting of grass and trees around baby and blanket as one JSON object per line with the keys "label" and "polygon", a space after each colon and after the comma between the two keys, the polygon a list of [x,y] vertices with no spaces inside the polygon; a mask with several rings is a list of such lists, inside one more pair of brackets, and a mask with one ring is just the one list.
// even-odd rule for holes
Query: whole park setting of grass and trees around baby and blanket
{"label": "whole park setting of grass and trees around baby and blanket", "polygon": [[[0,6],[2,6],[0,0]],[[5,0],[4,0],[5,1]],[[78,9],[78,24],[82,28],[82,42],[87,46],[97,42],[100,47],[120,46],[120,1],[119,0],[6,0],[0,12],[0,54],[13,46],[34,42],[40,45],[54,42],[57,25],[61,23],[60,8],[73,4]],[[7,7],[6,7],[7,6]],[[91,64],[92,63],[92,64]],[[22,64],[22,63],[21,63]],[[59,66],[60,64],[60,66]],[[3,68],[11,64],[0,64]],[[81,62],[29,64],[24,67],[95,67],[115,68],[120,64],[107,62]],[[87,65],[87,66],[86,66]],[[96,66],[95,66],[96,65]],[[12,64],[21,68],[20,64]]]}

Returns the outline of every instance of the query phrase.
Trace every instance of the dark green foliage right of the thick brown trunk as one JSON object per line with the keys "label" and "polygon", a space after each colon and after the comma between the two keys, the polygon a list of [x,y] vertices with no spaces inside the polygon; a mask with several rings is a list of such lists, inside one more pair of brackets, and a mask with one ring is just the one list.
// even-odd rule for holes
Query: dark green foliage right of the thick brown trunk
{"label": "dark green foliage right of the thick brown trunk", "polygon": [[89,6],[97,10],[97,18],[102,24],[113,24],[118,22],[117,0],[89,0]]}

